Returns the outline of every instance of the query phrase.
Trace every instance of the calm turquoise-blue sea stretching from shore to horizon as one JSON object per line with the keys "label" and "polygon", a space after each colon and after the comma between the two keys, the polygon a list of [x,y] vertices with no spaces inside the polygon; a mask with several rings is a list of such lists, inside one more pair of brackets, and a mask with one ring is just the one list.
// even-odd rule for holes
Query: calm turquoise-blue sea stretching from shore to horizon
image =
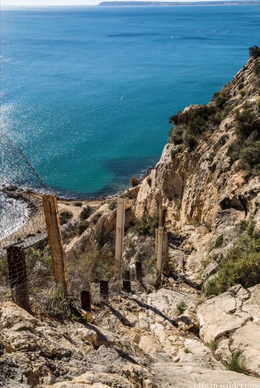
{"label": "calm turquoise-blue sea stretching from shore to horizon", "polygon": [[259,43],[258,5],[3,8],[2,131],[57,192],[109,194]]}

